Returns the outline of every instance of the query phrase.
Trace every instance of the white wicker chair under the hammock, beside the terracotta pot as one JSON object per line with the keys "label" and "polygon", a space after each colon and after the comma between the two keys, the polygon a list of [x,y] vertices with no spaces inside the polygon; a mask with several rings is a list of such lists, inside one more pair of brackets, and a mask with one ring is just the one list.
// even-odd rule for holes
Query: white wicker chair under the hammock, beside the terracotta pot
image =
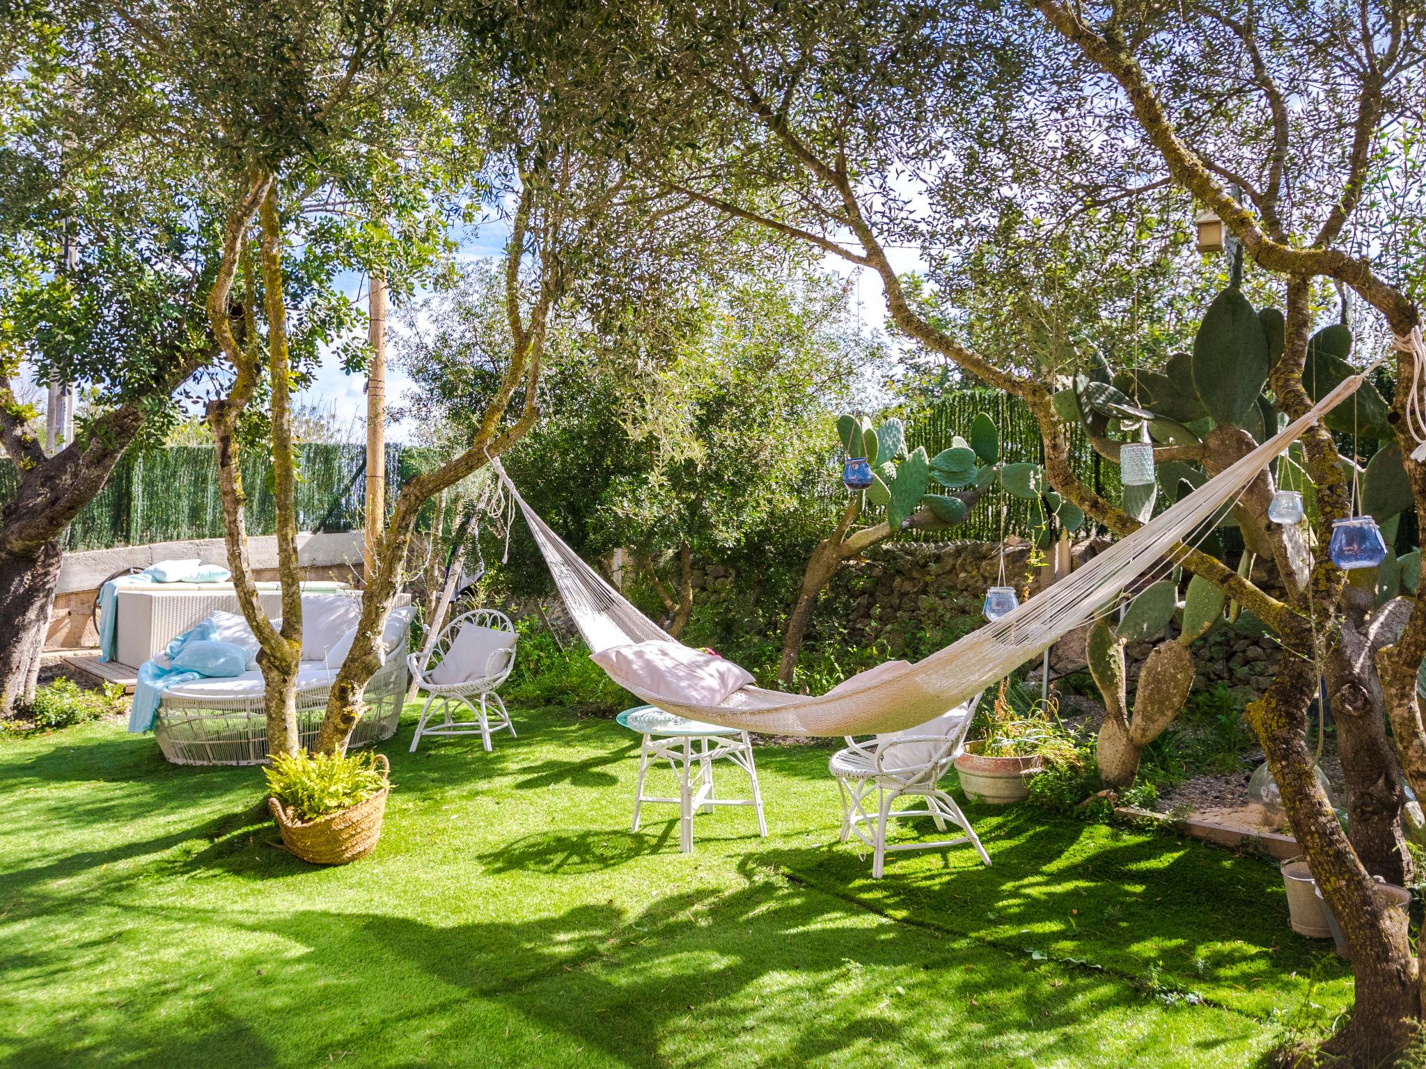
{"label": "white wicker chair under the hammock, beside the terracotta pot", "polygon": [[[857,743],[847,735],[847,747],[833,754],[829,771],[837,777],[841,788],[841,835],[846,842],[853,834],[871,847],[871,878],[880,879],[886,868],[886,855],[891,849],[945,849],[970,842],[981,861],[990,865],[990,855],[961,812],[955,800],[940,788],[940,780],[965,748],[965,733],[970,730],[980,704],[980,694],[953,710],[947,725],[941,718],[928,724],[877,735],[866,743]],[[935,725],[934,734],[928,731]],[[948,727],[948,730],[945,730]],[[918,747],[913,751],[908,747]],[[866,801],[876,791],[876,812],[867,812]],[[903,794],[925,800],[925,808],[893,810],[891,805]],[[965,832],[954,840],[935,842],[893,842],[887,845],[887,824],[901,817],[930,817],[937,831],[945,830],[950,820]]]}

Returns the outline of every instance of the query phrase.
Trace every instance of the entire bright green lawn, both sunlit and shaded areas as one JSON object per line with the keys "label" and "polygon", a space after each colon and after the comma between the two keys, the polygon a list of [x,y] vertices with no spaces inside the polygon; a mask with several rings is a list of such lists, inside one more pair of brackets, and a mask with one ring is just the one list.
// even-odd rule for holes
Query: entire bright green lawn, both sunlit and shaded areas
{"label": "entire bright green lawn, both sunlit and shaded areas", "polygon": [[[1269,865],[1035,810],[870,879],[817,747],[629,832],[635,737],[388,744],[376,852],[275,848],[257,770],[116,724],[0,743],[0,1058],[40,1066],[1225,1066],[1350,981]],[[723,775],[732,787],[733,771]],[[1318,983],[1309,985],[1316,975]]]}

